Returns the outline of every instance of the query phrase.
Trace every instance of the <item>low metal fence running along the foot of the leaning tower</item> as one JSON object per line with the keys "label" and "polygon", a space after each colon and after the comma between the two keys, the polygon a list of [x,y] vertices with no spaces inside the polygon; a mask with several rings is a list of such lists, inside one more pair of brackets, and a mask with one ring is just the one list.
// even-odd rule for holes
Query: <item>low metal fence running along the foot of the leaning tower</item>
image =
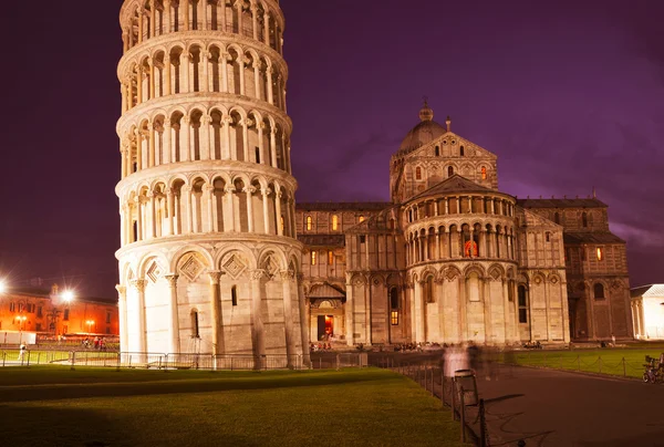
{"label": "low metal fence running along the foot of the leaning tower", "polygon": [[199,353],[148,353],[105,351],[3,350],[0,366],[92,366],[154,370],[273,371],[367,366],[366,353],[308,355],[215,355]]}

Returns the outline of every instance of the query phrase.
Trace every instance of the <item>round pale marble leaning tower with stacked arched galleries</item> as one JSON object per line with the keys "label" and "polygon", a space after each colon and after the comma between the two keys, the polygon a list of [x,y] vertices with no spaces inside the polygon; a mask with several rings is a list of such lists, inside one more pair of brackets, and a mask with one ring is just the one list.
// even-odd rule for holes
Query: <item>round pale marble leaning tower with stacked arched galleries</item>
{"label": "round pale marble leaning tower with stacked arched galleries", "polygon": [[279,1],[125,0],[120,21],[122,351],[302,358]]}

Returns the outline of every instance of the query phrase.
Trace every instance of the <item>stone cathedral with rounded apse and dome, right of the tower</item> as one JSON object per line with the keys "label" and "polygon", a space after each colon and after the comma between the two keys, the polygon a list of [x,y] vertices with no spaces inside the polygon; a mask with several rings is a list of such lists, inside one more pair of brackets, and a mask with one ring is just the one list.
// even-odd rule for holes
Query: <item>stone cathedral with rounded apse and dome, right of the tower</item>
{"label": "stone cathedral with rounded apse and dome, right of the tower", "polygon": [[606,205],[498,190],[497,156],[434,121],[390,162],[388,202],[298,204],[311,340],[495,345],[632,339]]}

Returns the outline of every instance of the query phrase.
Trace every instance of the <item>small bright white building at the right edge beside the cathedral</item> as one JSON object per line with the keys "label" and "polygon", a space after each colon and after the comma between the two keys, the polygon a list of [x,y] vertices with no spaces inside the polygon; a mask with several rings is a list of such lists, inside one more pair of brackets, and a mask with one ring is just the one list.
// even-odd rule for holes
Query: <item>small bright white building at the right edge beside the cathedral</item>
{"label": "small bright white building at the right edge beside the cathedral", "polygon": [[634,336],[640,340],[664,340],[664,284],[632,289]]}

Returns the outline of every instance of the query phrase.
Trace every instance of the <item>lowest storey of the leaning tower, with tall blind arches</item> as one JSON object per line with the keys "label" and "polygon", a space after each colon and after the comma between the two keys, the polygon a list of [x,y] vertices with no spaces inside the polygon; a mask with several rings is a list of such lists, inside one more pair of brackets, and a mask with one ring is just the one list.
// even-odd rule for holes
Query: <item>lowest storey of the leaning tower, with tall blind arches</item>
{"label": "lowest storey of the leaning tower, with tall blind arches", "polygon": [[217,367],[227,356],[256,367],[309,364],[297,241],[176,239],[117,253],[123,352],[216,354]]}

